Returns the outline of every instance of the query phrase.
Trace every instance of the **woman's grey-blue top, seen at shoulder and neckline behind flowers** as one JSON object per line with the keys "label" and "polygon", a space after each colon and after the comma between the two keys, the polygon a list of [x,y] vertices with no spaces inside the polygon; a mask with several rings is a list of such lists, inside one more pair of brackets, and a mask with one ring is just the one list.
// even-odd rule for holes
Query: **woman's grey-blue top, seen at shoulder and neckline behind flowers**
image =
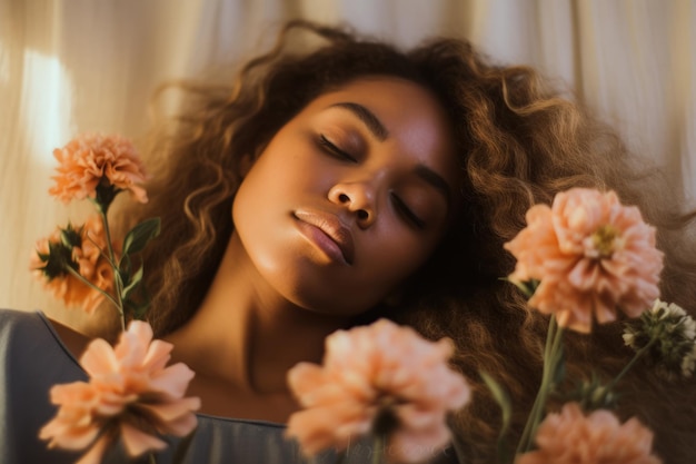
{"label": "woman's grey-blue top, seen at shoulder and neckline behind flowers", "polygon": [[[87,374],[63,345],[51,323],[40,313],[0,309],[0,461],[3,464],[74,463],[80,454],[48,450],[39,430],[54,414],[49,389],[54,384],[87,381]],[[198,414],[198,428],[183,461],[202,463],[302,463],[297,444],[284,436],[285,425],[265,421],[235,419]],[[157,463],[172,463],[179,444],[157,455]],[[370,446],[358,442],[345,463],[369,463]],[[438,453],[434,462],[457,462],[454,451]],[[454,460],[453,460],[454,458]],[[120,448],[105,463],[127,462]],[[138,461],[147,463],[147,460]],[[314,463],[336,463],[326,453]]]}

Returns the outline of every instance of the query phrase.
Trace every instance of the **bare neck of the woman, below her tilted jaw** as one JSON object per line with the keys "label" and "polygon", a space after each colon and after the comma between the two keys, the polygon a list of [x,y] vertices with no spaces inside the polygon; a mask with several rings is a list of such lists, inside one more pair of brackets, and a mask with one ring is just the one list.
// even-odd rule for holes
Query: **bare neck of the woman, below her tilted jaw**
{"label": "bare neck of the woman, below her tilted jaw", "polygon": [[297,307],[270,288],[236,236],[195,316],[167,339],[197,375],[259,394],[287,391],[287,371],[319,363],[346,318]]}

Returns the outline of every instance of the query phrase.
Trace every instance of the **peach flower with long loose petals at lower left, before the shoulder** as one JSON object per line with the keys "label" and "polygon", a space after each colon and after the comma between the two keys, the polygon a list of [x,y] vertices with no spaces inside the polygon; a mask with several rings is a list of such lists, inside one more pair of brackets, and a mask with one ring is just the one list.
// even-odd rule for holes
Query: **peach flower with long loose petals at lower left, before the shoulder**
{"label": "peach flower with long loose petals at lower left, before the shoulder", "polygon": [[179,363],[166,367],[172,345],[152,340],[149,324],[133,320],[116,347],[95,339],[80,358],[89,382],[56,385],[56,417],[40,431],[49,447],[89,451],[78,464],[97,464],[120,438],[130,456],[162,450],[158,434],[186,436],[196,428],[197,397],[183,397],[193,372]]}

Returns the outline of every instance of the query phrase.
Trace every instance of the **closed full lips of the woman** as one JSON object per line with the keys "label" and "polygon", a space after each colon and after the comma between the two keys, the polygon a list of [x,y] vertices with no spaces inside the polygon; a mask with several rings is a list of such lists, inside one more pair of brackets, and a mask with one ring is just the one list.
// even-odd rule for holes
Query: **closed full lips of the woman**
{"label": "closed full lips of the woman", "polygon": [[[299,219],[300,226],[307,230],[306,234],[321,248],[329,257],[340,257],[346,264],[352,264],[355,257],[355,244],[350,229],[340,219],[330,213],[298,209],[295,217]],[[328,240],[327,240],[328,238]],[[340,256],[335,256],[337,255]]]}

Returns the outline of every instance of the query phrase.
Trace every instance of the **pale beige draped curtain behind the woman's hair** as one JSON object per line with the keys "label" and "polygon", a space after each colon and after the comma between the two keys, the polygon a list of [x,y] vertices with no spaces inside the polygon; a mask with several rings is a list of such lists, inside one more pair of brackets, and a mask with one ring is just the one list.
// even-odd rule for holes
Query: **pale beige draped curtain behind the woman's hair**
{"label": "pale beige draped curtain behind the woman's hair", "polygon": [[64,310],[28,272],[38,237],[86,209],[49,198],[51,151],[138,139],[168,78],[241,59],[304,17],[410,46],[465,37],[529,63],[612,121],[696,197],[696,0],[0,0],[0,307]]}

